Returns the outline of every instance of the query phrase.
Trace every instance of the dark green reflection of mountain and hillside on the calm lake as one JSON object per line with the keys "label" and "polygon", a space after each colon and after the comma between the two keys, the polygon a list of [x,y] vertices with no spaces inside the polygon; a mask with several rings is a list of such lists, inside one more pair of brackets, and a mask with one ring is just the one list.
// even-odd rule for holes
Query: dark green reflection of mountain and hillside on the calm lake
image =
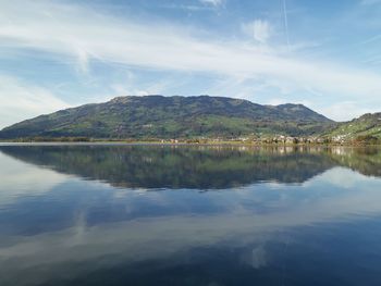
{"label": "dark green reflection of mountain and hillside on the calm lake", "polygon": [[303,183],[334,166],[381,176],[381,149],[322,147],[0,146],[13,158],[119,187],[223,189]]}

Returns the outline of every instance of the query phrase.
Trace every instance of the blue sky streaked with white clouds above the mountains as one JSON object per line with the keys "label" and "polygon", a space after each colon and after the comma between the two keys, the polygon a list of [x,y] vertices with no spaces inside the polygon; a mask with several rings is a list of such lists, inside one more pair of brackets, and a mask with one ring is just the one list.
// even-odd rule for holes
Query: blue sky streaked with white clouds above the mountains
{"label": "blue sky streaked with white clouds above the mountains", "polygon": [[381,0],[0,0],[0,128],[119,96],[381,111]]}

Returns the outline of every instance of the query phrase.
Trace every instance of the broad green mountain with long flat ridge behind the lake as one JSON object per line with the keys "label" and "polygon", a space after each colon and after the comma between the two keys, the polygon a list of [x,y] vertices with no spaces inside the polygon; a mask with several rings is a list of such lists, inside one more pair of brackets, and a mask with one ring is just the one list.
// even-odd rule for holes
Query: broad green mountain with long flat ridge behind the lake
{"label": "broad green mountain with long flat ridge behind the lake", "polygon": [[333,122],[302,104],[261,105],[223,97],[118,97],[23,121],[0,138],[174,138],[310,135]]}

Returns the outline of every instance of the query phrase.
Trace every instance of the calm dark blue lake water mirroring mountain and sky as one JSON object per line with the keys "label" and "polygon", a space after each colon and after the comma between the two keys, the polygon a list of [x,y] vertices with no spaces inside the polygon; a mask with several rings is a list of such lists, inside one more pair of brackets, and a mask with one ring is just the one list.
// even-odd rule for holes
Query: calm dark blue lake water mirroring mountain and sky
{"label": "calm dark blue lake water mirroring mountain and sky", "polygon": [[0,285],[381,285],[381,150],[0,146]]}

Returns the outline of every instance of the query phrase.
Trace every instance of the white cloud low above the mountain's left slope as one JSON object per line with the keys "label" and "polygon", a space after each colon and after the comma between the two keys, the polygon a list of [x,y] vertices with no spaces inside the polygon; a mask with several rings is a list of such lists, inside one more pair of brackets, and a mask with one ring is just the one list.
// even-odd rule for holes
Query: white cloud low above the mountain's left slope
{"label": "white cloud low above the mountain's left slope", "polygon": [[0,75],[0,129],[44,113],[69,108],[50,91]]}

